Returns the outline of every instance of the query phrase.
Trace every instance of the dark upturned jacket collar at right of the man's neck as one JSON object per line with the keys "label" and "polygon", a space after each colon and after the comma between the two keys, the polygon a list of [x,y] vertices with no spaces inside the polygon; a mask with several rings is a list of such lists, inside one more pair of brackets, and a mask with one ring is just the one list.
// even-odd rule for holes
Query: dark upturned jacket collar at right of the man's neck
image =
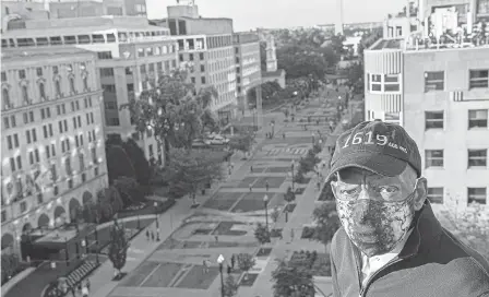
{"label": "dark upturned jacket collar at right of the man's neck", "polygon": [[421,210],[416,213],[414,230],[398,257],[405,259],[428,251],[442,233],[443,228],[434,216],[430,202],[426,200]]}

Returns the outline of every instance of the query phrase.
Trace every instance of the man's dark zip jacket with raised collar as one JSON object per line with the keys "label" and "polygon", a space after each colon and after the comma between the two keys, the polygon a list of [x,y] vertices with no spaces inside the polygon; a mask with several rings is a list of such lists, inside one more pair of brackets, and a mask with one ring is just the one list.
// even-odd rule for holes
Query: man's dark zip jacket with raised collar
{"label": "man's dark zip jacket with raised collar", "polygon": [[486,297],[488,260],[457,240],[427,202],[403,250],[361,287],[360,251],[343,227],[331,243],[335,297]]}

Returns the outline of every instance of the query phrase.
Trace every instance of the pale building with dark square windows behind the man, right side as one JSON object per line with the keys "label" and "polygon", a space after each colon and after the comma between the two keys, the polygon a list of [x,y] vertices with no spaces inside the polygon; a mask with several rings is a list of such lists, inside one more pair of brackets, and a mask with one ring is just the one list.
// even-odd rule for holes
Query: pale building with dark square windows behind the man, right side
{"label": "pale building with dark square windows behind the man, right side", "polygon": [[[438,22],[437,15],[429,20]],[[446,26],[453,25],[421,27],[406,39],[380,39],[365,51],[366,119],[397,122],[418,143],[436,207],[487,205],[489,46],[485,36],[463,29],[456,38],[445,37]],[[455,26],[473,24],[455,19]]]}

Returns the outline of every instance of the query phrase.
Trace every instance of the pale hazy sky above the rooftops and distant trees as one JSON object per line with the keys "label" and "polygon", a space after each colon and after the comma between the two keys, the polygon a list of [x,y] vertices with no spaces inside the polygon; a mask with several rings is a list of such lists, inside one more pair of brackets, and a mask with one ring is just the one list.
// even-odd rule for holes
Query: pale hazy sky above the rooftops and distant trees
{"label": "pale hazy sky above the rooftops and distant trees", "polygon": [[[229,17],[235,31],[278,28],[334,23],[337,0],[195,0],[203,17]],[[381,22],[396,13],[406,0],[343,0],[344,22]],[[146,0],[150,19],[166,17],[176,0]]]}

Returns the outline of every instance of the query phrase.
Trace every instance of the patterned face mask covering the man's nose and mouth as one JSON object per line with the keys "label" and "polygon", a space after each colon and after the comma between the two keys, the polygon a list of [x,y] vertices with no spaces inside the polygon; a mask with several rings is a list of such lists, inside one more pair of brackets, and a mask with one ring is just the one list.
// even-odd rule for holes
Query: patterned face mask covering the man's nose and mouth
{"label": "patterned face mask covering the man's nose and mouth", "polygon": [[406,236],[415,216],[414,197],[399,202],[336,200],[336,207],[351,242],[372,257],[390,252]]}

